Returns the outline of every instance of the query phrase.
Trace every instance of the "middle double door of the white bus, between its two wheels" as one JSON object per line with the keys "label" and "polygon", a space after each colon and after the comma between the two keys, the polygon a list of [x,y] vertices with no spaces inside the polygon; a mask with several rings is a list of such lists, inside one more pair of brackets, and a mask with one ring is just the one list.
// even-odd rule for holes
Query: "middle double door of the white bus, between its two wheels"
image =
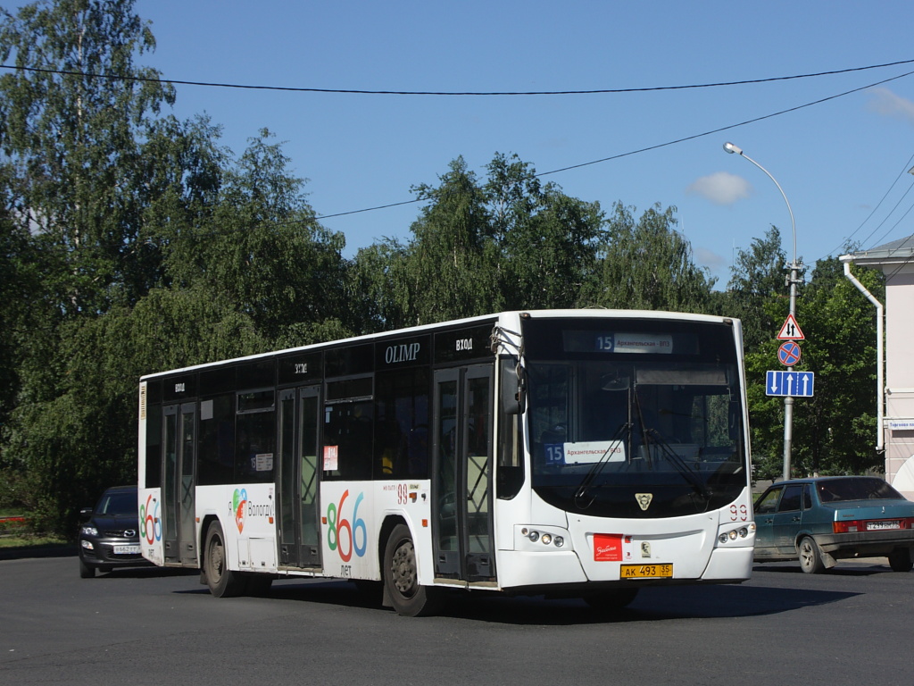
{"label": "middle double door of the white bus, between its two wheels", "polygon": [[280,536],[282,567],[319,569],[317,437],[320,387],[280,393]]}

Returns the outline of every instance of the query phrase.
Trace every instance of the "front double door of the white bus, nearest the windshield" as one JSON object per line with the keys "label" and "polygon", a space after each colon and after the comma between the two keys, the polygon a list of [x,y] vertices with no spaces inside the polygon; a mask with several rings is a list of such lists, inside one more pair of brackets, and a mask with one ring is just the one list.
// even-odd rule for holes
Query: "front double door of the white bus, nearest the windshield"
{"label": "front double door of the white bus, nearest the windshield", "polygon": [[494,581],[492,368],[435,372],[435,576]]}

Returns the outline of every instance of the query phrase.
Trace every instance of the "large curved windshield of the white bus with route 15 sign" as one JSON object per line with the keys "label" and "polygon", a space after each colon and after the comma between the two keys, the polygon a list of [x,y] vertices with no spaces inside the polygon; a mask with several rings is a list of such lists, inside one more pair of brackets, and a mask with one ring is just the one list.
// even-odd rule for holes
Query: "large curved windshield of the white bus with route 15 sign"
{"label": "large curved windshield of the white bus with route 15 sign", "polygon": [[748,476],[732,333],[654,320],[613,329],[525,332],[537,494],[569,512],[633,519],[739,497]]}

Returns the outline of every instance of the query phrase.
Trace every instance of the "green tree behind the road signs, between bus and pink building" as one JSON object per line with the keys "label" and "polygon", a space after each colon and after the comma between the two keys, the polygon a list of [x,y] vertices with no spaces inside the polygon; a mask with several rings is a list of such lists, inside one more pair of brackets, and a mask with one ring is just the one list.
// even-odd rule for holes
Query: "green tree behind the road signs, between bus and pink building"
{"label": "green tree behind the road signs, between bus and pink building", "polygon": [[[858,278],[883,297],[881,273]],[[771,295],[766,316],[786,316],[782,298]],[[876,310],[844,276],[841,263],[816,263],[810,283],[797,298],[797,321],[805,339],[796,370],[815,373],[815,395],[793,404],[792,473],[861,474],[882,468],[876,440]],[[777,328],[777,327],[774,327]],[[866,333],[861,333],[866,332]],[[776,369],[781,341],[770,338],[746,358],[753,452],[760,475],[781,473],[783,402],[764,395],[765,371]]]}

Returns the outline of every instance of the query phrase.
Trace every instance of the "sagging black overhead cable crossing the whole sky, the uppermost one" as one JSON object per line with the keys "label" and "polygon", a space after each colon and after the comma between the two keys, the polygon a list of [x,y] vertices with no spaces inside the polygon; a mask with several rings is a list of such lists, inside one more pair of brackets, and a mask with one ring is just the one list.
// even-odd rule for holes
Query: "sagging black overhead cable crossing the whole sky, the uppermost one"
{"label": "sagging black overhead cable crossing the whole sky, the uppermost one", "polygon": [[639,93],[648,91],[686,91],[697,88],[718,88],[723,86],[743,86],[757,83],[771,83],[773,81],[796,80],[796,79],[814,79],[822,76],[833,76],[835,74],[847,74],[855,71],[866,71],[884,69],[886,67],[897,67],[901,64],[914,63],[914,59],[902,59],[897,62],[886,62],[884,64],[872,64],[866,67],[851,67],[845,70],[818,71],[809,74],[794,74],[792,76],[774,76],[764,79],[746,79],[735,81],[717,81],[714,83],[692,83],[679,86],[644,86],[640,88],[602,88],[582,91],[370,91],[361,89],[344,89],[344,88],[303,88],[295,86],[263,86],[243,83],[220,83],[217,81],[190,81],[175,79],[155,79],[143,76],[122,76],[119,74],[94,74],[88,71],[73,70],[53,70],[43,69],[40,67],[19,67],[16,65],[0,65],[0,69],[31,71],[35,73],[58,74],[60,76],[81,76],[90,79],[108,79],[108,80],[125,80],[141,81],[152,83],[170,83],[179,86],[206,86],[209,88],[234,88],[250,91],[291,91],[291,92],[309,92],[309,93],[340,93],[349,95],[443,95],[443,96],[514,96],[514,95],[598,95],[606,93]]}

